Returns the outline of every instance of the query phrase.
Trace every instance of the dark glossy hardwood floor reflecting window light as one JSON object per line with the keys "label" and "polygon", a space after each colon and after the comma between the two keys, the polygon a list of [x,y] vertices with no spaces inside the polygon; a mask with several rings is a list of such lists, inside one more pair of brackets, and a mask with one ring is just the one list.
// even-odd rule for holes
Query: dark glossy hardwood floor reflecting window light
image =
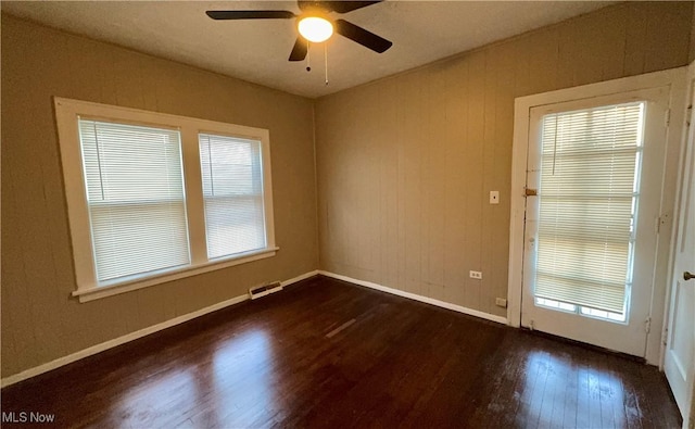
{"label": "dark glossy hardwood floor reflecting window light", "polygon": [[655,367],[321,277],[1,394],[59,427],[681,427]]}

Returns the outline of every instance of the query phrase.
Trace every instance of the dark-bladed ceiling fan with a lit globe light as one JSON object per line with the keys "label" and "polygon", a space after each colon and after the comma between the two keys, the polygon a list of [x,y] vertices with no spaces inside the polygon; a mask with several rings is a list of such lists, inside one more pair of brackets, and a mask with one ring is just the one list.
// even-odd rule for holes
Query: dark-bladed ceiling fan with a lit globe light
{"label": "dark-bladed ceiling fan with a lit globe light", "polygon": [[303,61],[308,51],[307,41],[321,42],[328,40],[333,29],[339,35],[382,53],[393,45],[383,37],[377,36],[345,20],[331,20],[328,14],[348,13],[357,9],[379,3],[377,1],[303,1],[298,0],[301,14],[290,11],[206,11],[213,20],[292,20],[296,18],[299,35],[289,61]]}

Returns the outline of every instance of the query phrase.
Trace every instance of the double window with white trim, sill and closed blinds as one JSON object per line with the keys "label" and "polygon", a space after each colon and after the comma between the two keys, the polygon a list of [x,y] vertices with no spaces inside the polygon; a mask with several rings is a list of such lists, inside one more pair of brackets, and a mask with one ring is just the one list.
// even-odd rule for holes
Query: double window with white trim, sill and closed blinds
{"label": "double window with white trim, sill and closed blinds", "polygon": [[275,254],[268,131],[55,99],[80,301]]}

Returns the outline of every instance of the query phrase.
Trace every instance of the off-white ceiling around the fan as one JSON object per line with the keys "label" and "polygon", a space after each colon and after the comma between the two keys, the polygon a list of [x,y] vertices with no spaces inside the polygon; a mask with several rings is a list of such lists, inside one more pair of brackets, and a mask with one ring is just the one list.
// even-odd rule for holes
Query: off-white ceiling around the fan
{"label": "off-white ceiling around the fan", "polygon": [[[590,12],[606,1],[395,1],[340,17],[393,41],[382,54],[340,36],[313,46],[306,63],[287,61],[294,20],[213,21],[206,10],[289,10],[294,1],[3,1],[10,14],[316,98]],[[332,14],[333,17],[339,15]]]}

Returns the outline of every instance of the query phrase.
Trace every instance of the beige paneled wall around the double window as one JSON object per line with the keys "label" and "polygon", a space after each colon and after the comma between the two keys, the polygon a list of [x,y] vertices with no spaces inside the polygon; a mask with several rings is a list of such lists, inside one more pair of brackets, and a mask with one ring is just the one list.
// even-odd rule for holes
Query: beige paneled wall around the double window
{"label": "beige paneled wall around the double window", "polygon": [[[52,97],[270,130],[277,256],[85,304]],[[318,266],[313,101],[2,15],[2,377]]]}

